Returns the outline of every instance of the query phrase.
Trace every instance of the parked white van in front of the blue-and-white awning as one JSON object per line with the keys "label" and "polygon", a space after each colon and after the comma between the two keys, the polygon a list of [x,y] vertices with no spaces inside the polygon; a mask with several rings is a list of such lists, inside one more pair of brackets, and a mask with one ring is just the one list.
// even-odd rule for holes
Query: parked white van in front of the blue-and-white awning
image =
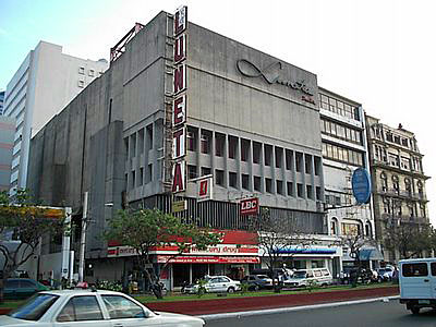
{"label": "parked white van in front of the blue-and-white awning", "polygon": [[305,288],[311,283],[316,286],[328,286],[334,281],[330,271],[327,268],[299,269],[293,271],[290,279],[284,280],[286,287]]}

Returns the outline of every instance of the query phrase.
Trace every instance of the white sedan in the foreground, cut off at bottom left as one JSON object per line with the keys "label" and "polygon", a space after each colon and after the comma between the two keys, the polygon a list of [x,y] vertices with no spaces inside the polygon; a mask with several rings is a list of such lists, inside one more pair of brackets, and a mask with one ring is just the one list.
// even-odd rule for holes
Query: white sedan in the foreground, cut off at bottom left
{"label": "white sedan in the foreground, cut off at bottom left", "polygon": [[158,313],[136,300],[111,291],[45,291],[5,316],[0,326],[9,327],[202,327],[204,320],[172,313]]}

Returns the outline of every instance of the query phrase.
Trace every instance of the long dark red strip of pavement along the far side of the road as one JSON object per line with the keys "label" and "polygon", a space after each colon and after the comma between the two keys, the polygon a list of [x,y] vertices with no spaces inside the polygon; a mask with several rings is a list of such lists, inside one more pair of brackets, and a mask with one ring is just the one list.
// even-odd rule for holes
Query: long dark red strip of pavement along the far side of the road
{"label": "long dark red strip of pavement along the far side of the road", "polygon": [[358,288],[344,291],[315,292],[305,294],[286,294],[286,292],[282,292],[278,295],[268,296],[241,296],[215,300],[154,302],[145,304],[155,311],[167,311],[189,315],[208,315],[391,296],[397,295],[398,293],[398,286],[389,286],[376,289]]}

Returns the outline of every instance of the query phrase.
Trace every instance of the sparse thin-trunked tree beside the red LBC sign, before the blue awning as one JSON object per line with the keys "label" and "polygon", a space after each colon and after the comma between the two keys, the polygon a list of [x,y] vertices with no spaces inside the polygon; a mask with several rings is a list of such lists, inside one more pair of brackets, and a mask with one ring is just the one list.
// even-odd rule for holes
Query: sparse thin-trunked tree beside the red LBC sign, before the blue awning
{"label": "sparse thin-trunked tree beside the red LBC sign, before the blue awning", "polygon": [[292,250],[304,249],[314,243],[314,240],[302,232],[294,219],[272,217],[267,208],[263,208],[258,216],[250,218],[249,229],[257,233],[257,244],[266,255],[265,263],[272,277],[272,287],[279,291],[274,268],[278,268],[283,253],[292,257],[293,254],[289,252],[291,246]]}

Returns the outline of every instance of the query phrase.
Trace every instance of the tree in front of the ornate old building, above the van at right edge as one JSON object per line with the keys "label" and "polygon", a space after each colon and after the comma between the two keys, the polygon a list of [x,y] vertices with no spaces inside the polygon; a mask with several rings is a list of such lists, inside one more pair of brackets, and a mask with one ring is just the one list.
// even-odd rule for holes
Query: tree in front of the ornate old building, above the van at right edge
{"label": "tree in front of the ornate old building, above the van at right edge", "polygon": [[387,223],[385,228],[386,249],[400,254],[400,258],[411,258],[431,250],[434,230],[429,225],[408,221]]}

